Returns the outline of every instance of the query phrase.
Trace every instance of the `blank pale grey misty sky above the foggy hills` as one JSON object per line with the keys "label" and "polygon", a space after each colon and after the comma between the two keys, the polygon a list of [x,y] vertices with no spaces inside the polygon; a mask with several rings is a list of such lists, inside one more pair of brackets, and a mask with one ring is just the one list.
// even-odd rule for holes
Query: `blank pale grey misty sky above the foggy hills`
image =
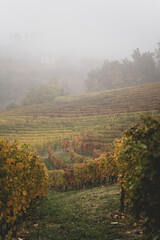
{"label": "blank pale grey misty sky above the foggy hills", "polygon": [[43,53],[121,59],[157,47],[160,0],[0,0],[0,43],[15,33]]}

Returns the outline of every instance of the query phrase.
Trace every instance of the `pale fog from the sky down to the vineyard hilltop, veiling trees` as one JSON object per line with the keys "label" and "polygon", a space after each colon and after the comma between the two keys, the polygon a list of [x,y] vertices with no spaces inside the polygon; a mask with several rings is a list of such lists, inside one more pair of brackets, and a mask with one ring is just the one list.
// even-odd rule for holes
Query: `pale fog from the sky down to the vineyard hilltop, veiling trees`
{"label": "pale fog from the sky down to the vineyard hilltop, veiling trees", "polygon": [[[0,0],[0,109],[44,82],[82,94],[158,81],[147,52],[160,41],[159,9],[159,0]],[[132,61],[135,49],[133,62],[103,65]]]}

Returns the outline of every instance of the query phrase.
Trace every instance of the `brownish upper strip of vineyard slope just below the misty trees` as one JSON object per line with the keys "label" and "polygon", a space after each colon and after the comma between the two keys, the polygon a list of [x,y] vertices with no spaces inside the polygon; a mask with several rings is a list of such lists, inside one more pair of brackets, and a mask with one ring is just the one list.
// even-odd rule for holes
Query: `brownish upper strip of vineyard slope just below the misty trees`
{"label": "brownish upper strip of vineyard slope just below the misty trees", "polygon": [[82,117],[160,109],[160,83],[59,97],[55,102],[6,111],[7,116]]}

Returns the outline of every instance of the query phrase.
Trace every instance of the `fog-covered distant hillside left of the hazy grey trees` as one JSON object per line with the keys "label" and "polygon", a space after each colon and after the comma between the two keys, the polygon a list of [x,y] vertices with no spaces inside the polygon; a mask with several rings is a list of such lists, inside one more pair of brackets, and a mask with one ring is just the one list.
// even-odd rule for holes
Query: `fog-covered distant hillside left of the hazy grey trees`
{"label": "fog-covered distant hillside left of the hazy grey trees", "polygon": [[[1,55],[1,54],[0,54]],[[86,92],[87,72],[99,65],[94,59],[53,57],[0,59],[0,109],[22,102],[32,89],[57,81],[66,94]]]}

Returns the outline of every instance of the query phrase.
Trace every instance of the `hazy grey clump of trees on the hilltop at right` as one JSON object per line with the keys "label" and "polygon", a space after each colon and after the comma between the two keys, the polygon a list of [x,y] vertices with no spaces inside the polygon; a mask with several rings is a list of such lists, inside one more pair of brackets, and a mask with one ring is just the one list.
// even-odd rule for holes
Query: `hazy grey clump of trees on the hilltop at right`
{"label": "hazy grey clump of trees on the hilltop at right", "polygon": [[107,60],[100,68],[89,72],[86,80],[88,91],[102,91],[159,81],[160,71],[152,53],[140,53],[137,48],[133,51],[132,59],[130,61],[126,58],[122,62]]}

